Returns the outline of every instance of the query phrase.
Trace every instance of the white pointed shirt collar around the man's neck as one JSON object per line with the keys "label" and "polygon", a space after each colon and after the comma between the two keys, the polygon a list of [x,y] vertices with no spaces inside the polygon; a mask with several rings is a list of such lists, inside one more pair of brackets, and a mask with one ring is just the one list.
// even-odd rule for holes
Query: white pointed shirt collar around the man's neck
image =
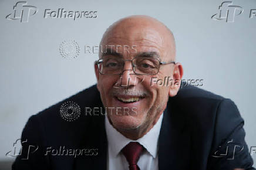
{"label": "white pointed shirt collar around the man's neck", "polygon": [[109,123],[109,119],[105,116],[105,127],[107,134],[107,141],[109,145],[109,149],[111,149],[113,155],[117,156],[119,152],[125,147],[129,142],[139,142],[143,145],[144,148],[156,158],[157,155],[157,141],[159,138],[161,123],[163,120],[163,113],[160,115],[157,123],[151,128],[147,134],[145,134],[142,138],[138,140],[130,140],[129,138],[124,137],[119,131],[117,131],[113,126]]}

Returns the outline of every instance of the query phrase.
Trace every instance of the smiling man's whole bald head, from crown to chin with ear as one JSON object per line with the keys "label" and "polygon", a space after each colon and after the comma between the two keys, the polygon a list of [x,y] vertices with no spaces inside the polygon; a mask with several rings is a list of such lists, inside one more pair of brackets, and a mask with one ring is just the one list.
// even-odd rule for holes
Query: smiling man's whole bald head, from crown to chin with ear
{"label": "smiling man's whole bald head, from crown to chin with ear", "polygon": [[[101,50],[101,63],[95,66],[97,89],[104,106],[137,108],[135,115],[108,114],[109,121],[125,137],[137,140],[156,124],[169,96],[175,96],[179,89],[179,86],[150,86],[151,77],[171,76],[180,80],[183,75],[181,64],[174,63],[173,34],[156,19],[133,16],[110,26],[100,46],[114,47]],[[116,46],[122,53],[114,51]],[[136,47],[136,53],[123,49],[127,46]]]}

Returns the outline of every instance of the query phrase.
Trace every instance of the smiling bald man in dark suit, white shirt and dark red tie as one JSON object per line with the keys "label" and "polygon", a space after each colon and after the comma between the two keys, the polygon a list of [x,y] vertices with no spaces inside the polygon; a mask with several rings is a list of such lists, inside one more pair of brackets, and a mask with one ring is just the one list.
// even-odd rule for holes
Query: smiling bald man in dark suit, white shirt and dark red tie
{"label": "smiling bald man in dark suit, white shirt and dark red tie", "polygon": [[[97,85],[32,115],[12,168],[254,169],[233,101],[180,87],[175,56],[173,34],[156,19],[114,23],[100,42]],[[168,86],[157,83],[165,77]]]}

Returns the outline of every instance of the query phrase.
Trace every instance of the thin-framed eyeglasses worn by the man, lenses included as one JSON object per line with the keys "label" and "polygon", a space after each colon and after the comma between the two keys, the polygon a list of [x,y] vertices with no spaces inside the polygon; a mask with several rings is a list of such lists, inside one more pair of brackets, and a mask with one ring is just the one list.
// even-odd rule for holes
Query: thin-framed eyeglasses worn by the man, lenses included
{"label": "thin-framed eyeglasses worn by the man, lenses included", "polygon": [[132,60],[123,60],[120,57],[104,57],[95,62],[103,75],[120,75],[124,72],[124,62],[132,62],[133,72],[139,75],[156,75],[159,72],[160,65],[176,64],[173,61],[161,62],[154,57],[134,57]]}

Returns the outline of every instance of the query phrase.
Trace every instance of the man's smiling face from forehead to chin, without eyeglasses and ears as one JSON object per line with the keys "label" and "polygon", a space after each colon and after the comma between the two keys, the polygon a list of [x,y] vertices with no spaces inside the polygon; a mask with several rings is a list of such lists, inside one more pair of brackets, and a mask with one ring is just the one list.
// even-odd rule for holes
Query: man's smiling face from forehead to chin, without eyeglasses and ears
{"label": "man's smiling face from forehead to chin, without eyeglasses and ears", "polygon": [[[172,59],[166,51],[163,35],[154,29],[114,29],[102,41],[102,59],[119,57],[132,60],[133,57],[143,57],[144,53],[161,61]],[[104,53],[111,48],[113,53]],[[109,50],[108,50],[109,51]],[[121,75],[102,75],[95,66],[97,88],[100,91],[103,105],[107,108],[107,115],[113,127],[119,131],[146,131],[153,127],[161,113],[166,108],[171,86],[159,86],[151,80],[164,80],[173,77],[174,64],[160,66],[156,75],[135,75],[132,62],[124,62]],[[156,78],[153,78],[156,77]]]}

